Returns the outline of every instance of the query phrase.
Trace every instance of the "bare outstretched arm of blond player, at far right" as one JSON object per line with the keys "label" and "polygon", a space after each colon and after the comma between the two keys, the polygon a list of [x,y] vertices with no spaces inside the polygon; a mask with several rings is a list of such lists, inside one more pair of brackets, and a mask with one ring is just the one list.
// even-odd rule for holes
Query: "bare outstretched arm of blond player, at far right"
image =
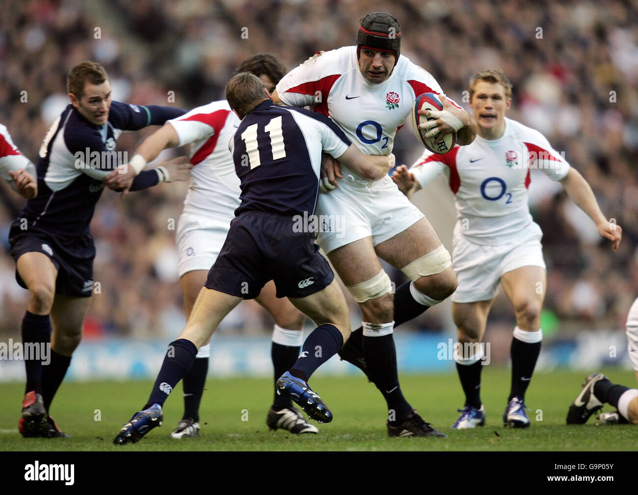
{"label": "bare outstretched arm of blond player, at far right", "polygon": [[607,220],[605,215],[603,215],[590,185],[581,173],[574,168],[570,168],[567,175],[563,177],[560,182],[563,184],[563,187],[565,187],[567,196],[594,221],[598,227],[600,236],[612,242],[612,251],[618,249],[618,245],[623,237],[623,229],[616,224],[616,222]]}

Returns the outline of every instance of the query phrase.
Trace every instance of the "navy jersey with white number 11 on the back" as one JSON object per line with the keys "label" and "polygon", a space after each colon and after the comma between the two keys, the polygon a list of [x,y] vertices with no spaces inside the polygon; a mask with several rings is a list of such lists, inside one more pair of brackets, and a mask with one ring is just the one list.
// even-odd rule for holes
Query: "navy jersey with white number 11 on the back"
{"label": "navy jersey with white number 11 on the back", "polygon": [[258,104],[230,141],[242,191],[235,215],[246,211],[312,215],[322,150],[336,158],[351,144],[325,115],[276,106],[271,100]]}

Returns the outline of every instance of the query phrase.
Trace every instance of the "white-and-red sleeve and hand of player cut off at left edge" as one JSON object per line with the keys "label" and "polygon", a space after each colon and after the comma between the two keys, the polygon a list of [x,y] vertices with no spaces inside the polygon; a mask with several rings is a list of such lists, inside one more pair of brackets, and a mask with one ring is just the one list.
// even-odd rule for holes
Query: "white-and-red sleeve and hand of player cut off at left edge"
{"label": "white-and-red sleeve and hand of player cut off at left edge", "polygon": [[0,176],[20,196],[27,199],[38,196],[36,168],[13,144],[11,135],[3,124],[0,124]]}

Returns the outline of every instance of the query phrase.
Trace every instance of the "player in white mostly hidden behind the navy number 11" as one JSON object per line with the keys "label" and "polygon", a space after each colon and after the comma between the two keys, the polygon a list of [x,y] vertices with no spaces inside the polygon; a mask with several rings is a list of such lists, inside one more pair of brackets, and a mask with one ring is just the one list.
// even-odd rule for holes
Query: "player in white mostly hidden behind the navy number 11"
{"label": "player in white mostly hidden behind the navy number 11", "polygon": [[[286,69],[272,55],[258,54],[242,62],[237,72],[253,73],[272,92],[276,83],[286,74]],[[226,240],[230,221],[234,219],[235,209],[240,204],[239,177],[228,150],[228,141],[239,123],[239,118],[230,111],[226,100],[213,101],[168,121],[136,150],[138,157],[151,161],[165,148],[191,144],[193,183],[177,226],[179,276],[187,318]],[[114,187],[124,187],[124,178],[124,175],[114,175]],[[275,292],[274,283],[268,282],[256,301],[275,320],[271,357],[276,381],[297,361],[303,343],[301,329],[306,315],[297,310],[288,298],[278,299]],[[210,343],[207,342],[198,350],[193,367],[184,377],[184,415],[171,433],[172,438],[199,434],[199,405],[204,392],[209,355]],[[318,433],[316,426],[293,407],[290,397],[276,393],[266,422],[271,429]]]}

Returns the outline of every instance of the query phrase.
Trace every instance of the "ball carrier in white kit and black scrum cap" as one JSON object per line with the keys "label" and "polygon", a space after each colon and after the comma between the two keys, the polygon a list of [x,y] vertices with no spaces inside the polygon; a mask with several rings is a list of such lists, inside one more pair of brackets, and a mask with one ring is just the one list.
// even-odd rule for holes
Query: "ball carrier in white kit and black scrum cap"
{"label": "ball carrier in white kit and black scrum cap", "polygon": [[[273,101],[313,106],[339,124],[362,152],[388,155],[415,97],[424,92],[443,95],[433,76],[400,55],[400,48],[396,18],[385,12],[366,15],[357,46],[319,52],[293,69],[277,85]],[[459,145],[471,143],[476,134],[471,115],[441,99],[443,111],[431,132],[441,139],[456,131]],[[424,422],[403,397],[392,331],[454,292],[450,255],[389,176],[371,182],[346,167],[341,173],[338,187],[320,195],[318,213],[324,220],[317,242],[359,303],[363,323],[339,355],[364,370],[383,394],[390,436],[445,436]],[[390,278],[377,256],[412,282],[393,296]]]}

